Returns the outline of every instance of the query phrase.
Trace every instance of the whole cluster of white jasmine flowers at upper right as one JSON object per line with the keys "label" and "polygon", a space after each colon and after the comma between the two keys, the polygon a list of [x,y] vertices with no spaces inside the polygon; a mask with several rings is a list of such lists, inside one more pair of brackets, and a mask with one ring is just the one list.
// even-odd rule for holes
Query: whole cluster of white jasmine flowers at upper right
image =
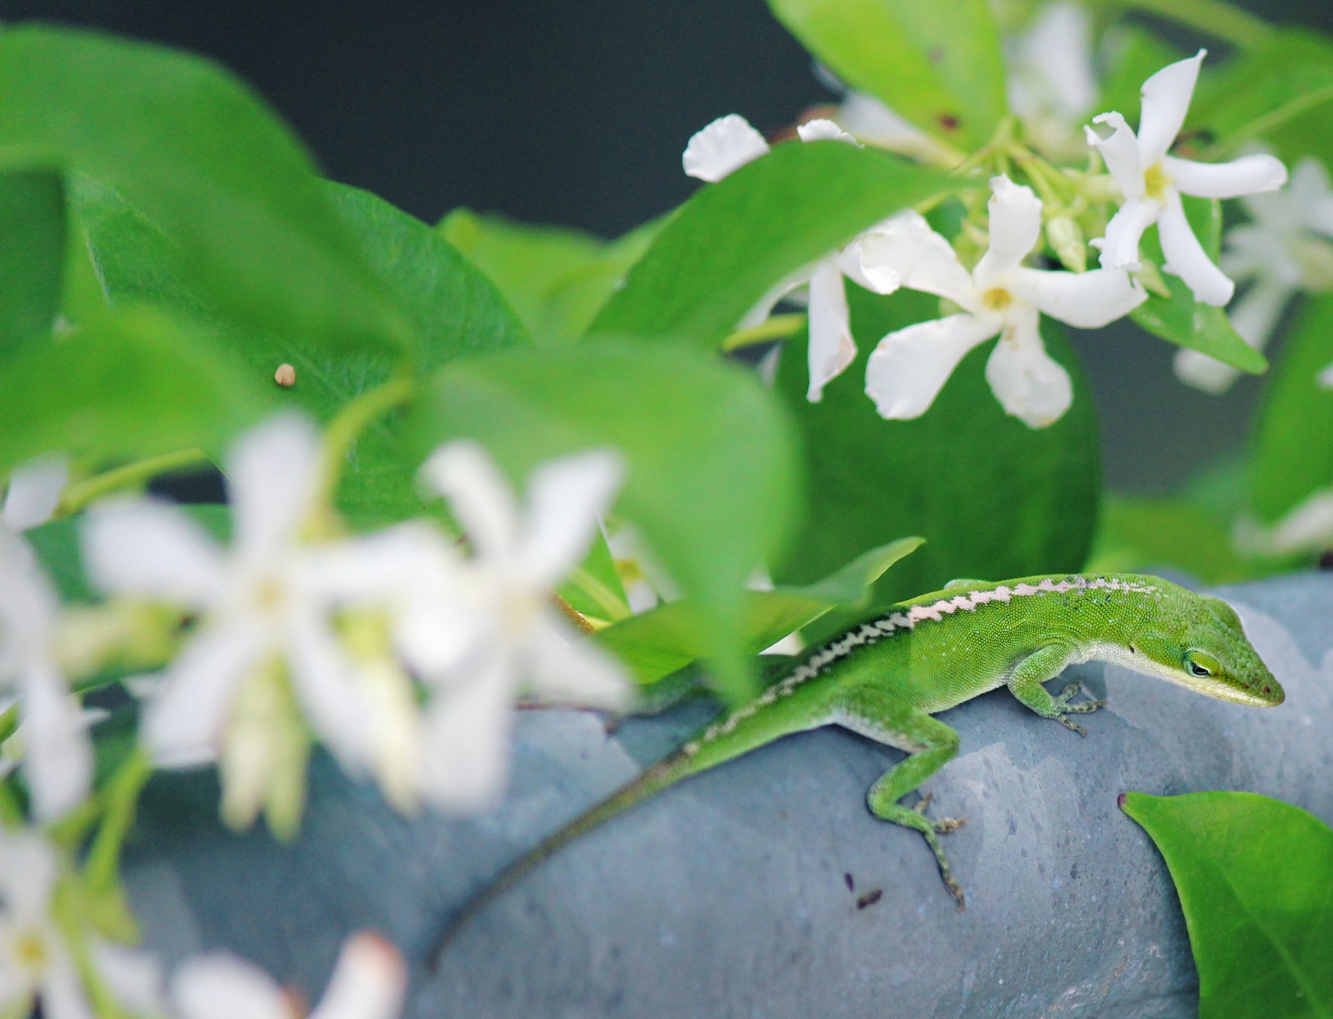
{"label": "whole cluster of white jasmine flowers at upper right", "polygon": [[[1041,132],[1030,132],[1042,140],[1038,148],[1044,151],[1066,152],[1068,132],[1062,135],[1058,125],[1068,127],[1093,103],[1096,91],[1086,56],[1088,35],[1088,20],[1080,8],[1052,4],[1014,47],[1014,108],[1025,115],[1025,124],[1045,125]],[[889,333],[866,361],[865,390],[881,417],[905,420],[924,414],[964,356],[998,336],[986,362],[990,389],[1006,413],[1032,428],[1044,428],[1068,410],[1072,388],[1068,373],[1045,352],[1040,317],[1045,314],[1077,328],[1098,328],[1146,301],[1149,294],[1138,277],[1152,270],[1154,278],[1158,268],[1145,265],[1140,256],[1140,241],[1150,226],[1157,228],[1161,241],[1162,270],[1178,276],[1200,304],[1230,301],[1234,284],[1209,257],[1185,214],[1181,196],[1189,194],[1249,197],[1256,220],[1265,224],[1233,233],[1224,260],[1224,265],[1242,278],[1262,276],[1265,280],[1253,285],[1249,300],[1238,309],[1242,336],[1260,345],[1261,334],[1276,318],[1274,309],[1280,310],[1296,286],[1312,285],[1312,266],[1320,260],[1310,242],[1298,234],[1305,228],[1325,229],[1321,225],[1324,213],[1318,202],[1312,201],[1321,178],[1317,170],[1302,168],[1298,197],[1294,193],[1273,196],[1265,202],[1264,194],[1286,181],[1286,168],[1273,156],[1257,152],[1230,163],[1196,163],[1170,155],[1189,111],[1204,56],[1200,51],[1144,83],[1137,132],[1117,112],[1092,119],[1084,133],[1084,152],[1100,156],[1109,176],[1030,172],[1033,186],[1056,202],[1050,204],[1032,186],[998,173],[990,180],[984,230],[978,233],[980,228],[970,218],[965,220],[964,230],[952,242],[920,213],[898,213],[782,281],[737,328],[753,326],[777,300],[796,286],[808,285],[806,396],[817,401],[825,385],[856,360],[844,277],[880,294],[890,294],[898,288],[932,293],[948,302],[948,313]],[[1053,83],[1060,88],[1052,88]],[[866,100],[861,99],[850,109],[865,113],[866,108]],[[913,145],[902,140],[904,132],[885,128],[892,119],[896,115],[882,108],[873,117],[852,117],[852,125],[868,123],[872,136],[877,131],[889,135],[892,148],[913,152]],[[848,120],[842,124],[846,127]],[[854,144],[854,139],[830,120],[813,120],[798,131],[802,141]],[[718,181],[766,151],[762,136],[733,113],[690,139],[684,155],[685,172],[705,181]],[[1037,160],[1032,152],[1017,151],[1016,155],[1028,165]],[[1052,184],[1052,174],[1056,174],[1056,184]],[[1073,197],[1057,194],[1056,185],[1065,186],[1070,181],[1081,181],[1078,193]],[[1085,272],[1082,241],[1072,210],[1086,210],[1108,198],[1117,200],[1118,208],[1104,221],[1104,236],[1088,242],[1100,252],[1101,268]],[[981,214],[980,208],[977,214]],[[1276,232],[1282,233],[1281,241],[1270,240]],[[1292,254],[1297,244],[1302,245],[1301,253]],[[1077,270],[1026,265],[1046,245]],[[1288,252],[1285,264],[1272,262],[1264,254],[1264,249],[1274,246]],[[980,253],[974,262],[970,261],[973,250]],[[1274,282],[1266,282],[1270,276]],[[1276,282],[1278,276],[1280,285]],[[1216,362],[1205,365],[1205,360],[1201,354],[1182,353],[1182,377],[1220,388],[1225,380],[1212,366]],[[1205,374],[1218,381],[1210,384]]]}

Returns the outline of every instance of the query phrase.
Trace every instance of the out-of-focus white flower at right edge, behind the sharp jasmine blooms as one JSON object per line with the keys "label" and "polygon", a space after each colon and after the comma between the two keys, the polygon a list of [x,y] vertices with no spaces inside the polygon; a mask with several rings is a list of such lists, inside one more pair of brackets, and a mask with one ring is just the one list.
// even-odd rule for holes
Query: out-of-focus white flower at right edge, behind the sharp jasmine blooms
{"label": "out-of-focus white flower at right edge, behind the sharp jasmine blooms", "polygon": [[[1298,290],[1333,288],[1333,192],[1324,164],[1305,157],[1292,184],[1274,194],[1241,200],[1250,221],[1226,234],[1221,268],[1249,288],[1228,313],[1236,332],[1262,350]],[[1176,374],[1209,393],[1222,393],[1240,377],[1230,365],[1197,350],[1176,354]]]}

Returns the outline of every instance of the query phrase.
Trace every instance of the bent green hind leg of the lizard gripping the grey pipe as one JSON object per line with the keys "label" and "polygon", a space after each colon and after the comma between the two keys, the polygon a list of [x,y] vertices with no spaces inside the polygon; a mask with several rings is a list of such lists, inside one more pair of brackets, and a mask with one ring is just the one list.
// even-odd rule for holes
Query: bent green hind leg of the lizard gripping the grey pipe
{"label": "bent green hind leg of the lizard gripping the grey pipe", "polygon": [[962,886],[953,876],[940,835],[957,831],[966,818],[929,818],[925,807],[929,797],[922,797],[916,807],[898,801],[917,789],[930,775],[958,754],[958,734],[916,707],[892,703],[888,694],[862,687],[852,691],[840,706],[838,725],[881,743],[909,751],[909,757],[885,771],[870,786],[865,803],[874,817],[920,831],[934,854],[944,887],[958,903],[966,906]]}

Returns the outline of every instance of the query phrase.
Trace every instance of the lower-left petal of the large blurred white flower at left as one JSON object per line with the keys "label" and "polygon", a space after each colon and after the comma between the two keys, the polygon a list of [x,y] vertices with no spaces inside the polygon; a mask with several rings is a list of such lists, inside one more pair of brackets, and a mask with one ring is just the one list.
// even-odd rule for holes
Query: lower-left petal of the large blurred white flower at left
{"label": "lower-left petal of the large blurred white flower at left", "polygon": [[208,626],[191,637],[141,723],[144,745],[159,763],[181,755],[195,759],[201,747],[216,745],[236,690],[267,643],[265,627],[248,619]]}

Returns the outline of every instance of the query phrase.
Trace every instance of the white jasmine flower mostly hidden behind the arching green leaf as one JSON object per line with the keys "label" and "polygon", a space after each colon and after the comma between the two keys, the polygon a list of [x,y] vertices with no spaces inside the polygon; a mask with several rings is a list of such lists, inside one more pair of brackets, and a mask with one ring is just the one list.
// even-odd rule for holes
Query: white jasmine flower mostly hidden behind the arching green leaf
{"label": "white jasmine flower mostly hidden behind the arching green leaf", "polygon": [[[801,141],[857,144],[856,139],[832,120],[812,120],[796,131]],[[714,120],[689,140],[684,157],[685,172],[692,177],[716,182],[765,152],[768,144],[762,136],[744,117],[730,113]],[[737,325],[738,329],[758,325],[768,318],[773,305],[782,297],[798,286],[809,286],[810,384],[805,397],[812,404],[822,400],[824,386],[856,360],[856,341],[852,338],[842,277],[850,277],[865,289],[881,294],[893,293],[898,286],[893,273],[868,270],[861,257],[864,240],[877,229],[878,226],[872,226],[846,246],[780,281]]]}

